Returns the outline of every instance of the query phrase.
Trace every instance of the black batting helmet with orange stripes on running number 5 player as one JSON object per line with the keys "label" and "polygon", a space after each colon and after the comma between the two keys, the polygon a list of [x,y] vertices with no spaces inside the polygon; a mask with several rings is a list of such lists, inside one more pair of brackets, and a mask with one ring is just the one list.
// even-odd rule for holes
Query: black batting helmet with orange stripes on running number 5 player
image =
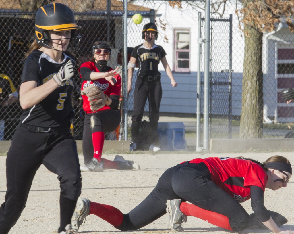
{"label": "black batting helmet with orange stripes on running number 5 player", "polygon": [[[76,24],[74,12],[61,3],[51,3],[41,6],[36,13],[35,38],[39,45],[48,46],[51,41],[49,31],[62,31],[71,29],[70,51],[76,51],[81,36],[76,35],[76,29],[81,28]],[[54,48],[52,48],[54,49]]]}

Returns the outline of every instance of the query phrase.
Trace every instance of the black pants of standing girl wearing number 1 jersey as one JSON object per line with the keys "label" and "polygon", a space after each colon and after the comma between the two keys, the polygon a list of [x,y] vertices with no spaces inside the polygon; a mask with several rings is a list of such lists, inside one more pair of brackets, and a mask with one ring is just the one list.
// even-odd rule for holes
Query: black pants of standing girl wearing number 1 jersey
{"label": "black pants of standing girl wearing number 1 jersey", "polygon": [[132,115],[132,141],[138,142],[138,134],[141,120],[143,118],[144,107],[148,99],[149,102],[149,140],[156,143],[157,126],[159,120],[159,108],[162,98],[162,88],[160,78],[154,81],[147,81],[142,77],[137,77],[134,91],[134,108]]}

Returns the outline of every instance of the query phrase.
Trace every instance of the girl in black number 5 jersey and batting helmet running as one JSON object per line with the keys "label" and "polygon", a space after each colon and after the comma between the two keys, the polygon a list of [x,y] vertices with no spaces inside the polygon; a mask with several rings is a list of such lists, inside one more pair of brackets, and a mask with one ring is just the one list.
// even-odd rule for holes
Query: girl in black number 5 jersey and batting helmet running
{"label": "girl in black number 5 jersey and batting helmet running", "polygon": [[74,233],[71,216],[81,194],[81,171],[70,132],[74,114],[70,78],[75,62],[69,52],[77,49],[81,37],[75,35],[78,28],[73,11],[64,4],[47,4],[36,13],[35,40],[27,53],[19,90],[23,113],[6,159],[1,234],[8,233],[20,217],[41,164],[58,175],[60,182],[58,233]]}

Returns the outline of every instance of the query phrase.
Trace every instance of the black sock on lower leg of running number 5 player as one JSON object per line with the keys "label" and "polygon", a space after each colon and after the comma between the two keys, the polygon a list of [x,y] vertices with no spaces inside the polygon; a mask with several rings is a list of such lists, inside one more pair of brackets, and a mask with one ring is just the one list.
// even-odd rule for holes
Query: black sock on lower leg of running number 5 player
{"label": "black sock on lower leg of running number 5 player", "polygon": [[58,233],[65,231],[66,225],[71,223],[71,216],[74,213],[76,201],[77,200],[72,201],[60,196],[60,228],[58,229]]}

